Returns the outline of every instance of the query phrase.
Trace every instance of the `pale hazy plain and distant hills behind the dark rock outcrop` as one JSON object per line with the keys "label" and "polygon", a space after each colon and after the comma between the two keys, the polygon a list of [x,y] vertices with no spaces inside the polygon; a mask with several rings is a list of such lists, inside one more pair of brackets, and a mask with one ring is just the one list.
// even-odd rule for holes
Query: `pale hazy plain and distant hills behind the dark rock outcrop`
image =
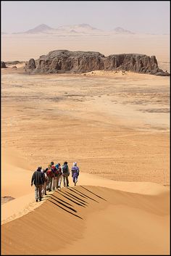
{"label": "pale hazy plain and distant hills behind the dark rock outcrop", "polygon": [[133,33],[124,28],[100,30],[88,24],[60,26],[45,24],[20,33],[2,33],[1,60],[38,59],[55,49],[99,51],[101,54],[155,55],[160,68],[170,70],[170,35]]}

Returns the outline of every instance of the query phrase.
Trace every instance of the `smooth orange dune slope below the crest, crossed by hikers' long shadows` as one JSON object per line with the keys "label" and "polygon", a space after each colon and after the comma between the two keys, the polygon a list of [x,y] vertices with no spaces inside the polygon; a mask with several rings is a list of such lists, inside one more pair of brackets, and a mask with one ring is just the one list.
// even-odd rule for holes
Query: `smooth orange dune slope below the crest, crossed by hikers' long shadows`
{"label": "smooth orange dune slope below the crest, crossed by hikers' long shadows", "polygon": [[169,193],[76,186],[1,226],[3,255],[169,254]]}

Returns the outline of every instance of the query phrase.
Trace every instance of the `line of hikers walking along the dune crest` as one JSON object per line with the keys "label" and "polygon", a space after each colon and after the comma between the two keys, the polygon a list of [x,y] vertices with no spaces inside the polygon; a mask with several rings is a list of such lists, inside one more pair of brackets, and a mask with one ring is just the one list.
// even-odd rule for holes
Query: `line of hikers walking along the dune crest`
{"label": "line of hikers walking along the dune crest", "polygon": [[[77,162],[73,162],[71,172],[72,181],[76,186],[80,173]],[[38,202],[38,198],[39,201],[41,201],[42,197],[46,195],[47,191],[60,189],[62,180],[64,187],[69,186],[69,176],[70,169],[67,165],[67,162],[64,162],[62,167],[60,163],[54,165],[54,162],[51,162],[51,164],[46,169],[43,169],[39,166],[31,178],[31,186],[33,186],[33,184],[35,185],[36,202]]]}

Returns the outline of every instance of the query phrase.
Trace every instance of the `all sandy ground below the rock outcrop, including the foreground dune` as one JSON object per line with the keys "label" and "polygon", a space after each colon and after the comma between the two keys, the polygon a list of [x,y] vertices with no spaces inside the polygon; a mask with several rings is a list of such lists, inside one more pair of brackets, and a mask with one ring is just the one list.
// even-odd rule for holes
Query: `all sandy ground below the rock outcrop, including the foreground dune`
{"label": "all sandy ground below the rock outcrop, including the foreground dune", "polygon": [[[2,205],[3,254],[169,254],[170,78],[1,74],[1,196],[15,198]],[[30,178],[51,161],[77,161],[78,186],[36,204]]]}

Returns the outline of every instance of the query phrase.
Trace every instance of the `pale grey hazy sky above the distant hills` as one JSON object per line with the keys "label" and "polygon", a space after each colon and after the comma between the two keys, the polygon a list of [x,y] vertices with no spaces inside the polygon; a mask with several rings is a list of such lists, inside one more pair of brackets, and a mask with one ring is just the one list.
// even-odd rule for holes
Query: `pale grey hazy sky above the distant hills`
{"label": "pale grey hazy sky above the distant hills", "polygon": [[1,1],[2,32],[22,32],[42,23],[170,33],[170,1]]}

